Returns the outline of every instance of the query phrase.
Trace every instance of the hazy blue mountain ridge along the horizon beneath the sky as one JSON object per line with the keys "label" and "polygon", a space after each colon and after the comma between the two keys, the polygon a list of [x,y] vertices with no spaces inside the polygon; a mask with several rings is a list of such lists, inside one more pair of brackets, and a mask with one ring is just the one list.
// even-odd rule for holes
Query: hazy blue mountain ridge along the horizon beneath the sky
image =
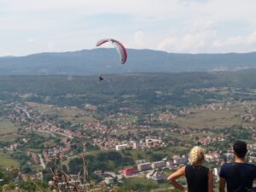
{"label": "hazy blue mountain ridge along the horizon beneath the sky", "polygon": [[119,64],[114,49],[84,49],[0,57],[0,75],[93,75],[101,73],[179,73],[236,71],[256,68],[256,52],[244,54],[173,54],[151,49],[128,49]]}

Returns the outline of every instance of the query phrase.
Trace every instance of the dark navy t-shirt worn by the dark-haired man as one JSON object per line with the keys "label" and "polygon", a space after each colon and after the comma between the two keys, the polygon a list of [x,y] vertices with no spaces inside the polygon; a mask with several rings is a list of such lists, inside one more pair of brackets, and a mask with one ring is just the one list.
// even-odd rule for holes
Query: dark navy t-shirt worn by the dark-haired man
{"label": "dark navy t-shirt worn by the dark-haired man", "polygon": [[225,163],[221,166],[219,177],[225,178],[228,192],[242,191],[239,190],[242,186],[250,189],[253,186],[253,179],[256,178],[256,166],[247,163]]}

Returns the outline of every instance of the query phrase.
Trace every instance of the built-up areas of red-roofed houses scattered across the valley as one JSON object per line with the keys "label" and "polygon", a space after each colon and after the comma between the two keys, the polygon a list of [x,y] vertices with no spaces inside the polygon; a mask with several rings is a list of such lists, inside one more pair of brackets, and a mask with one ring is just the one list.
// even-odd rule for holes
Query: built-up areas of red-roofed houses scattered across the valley
{"label": "built-up areas of red-roofed houses scattered across the valley", "polygon": [[[178,167],[186,165],[188,163],[188,152],[189,148],[194,145],[201,145],[207,149],[206,153],[206,162],[212,166],[214,175],[216,177],[216,182],[218,182],[218,172],[219,167],[226,161],[233,160],[233,154],[231,153],[231,148],[220,148],[221,143],[225,146],[225,143],[230,143],[235,139],[234,131],[224,131],[219,133],[219,130],[214,131],[210,129],[191,129],[185,127],[179,127],[173,125],[170,129],[161,128],[154,131],[149,131],[150,125],[132,125],[125,123],[121,126],[119,130],[122,131],[122,134],[117,134],[118,129],[114,126],[103,125],[100,121],[93,119],[90,122],[86,123],[69,123],[71,129],[65,128],[62,124],[65,122],[58,122],[56,119],[50,117],[45,118],[45,113],[37,110],[37,108],[32,108],[32,106],[39,105],[37,103],[19,103],[12,102],[10,104],[2,104],[2,107],[8,111],[6,115],[1,117],[1,121],[10,121],[19,123],[19,137],[15,139],[14,142],[6,143],[5,146],[1,146],[0,151],[9,151],[14,152],[19,151],[20,148],[31,148],[31,150],[26,149],[27,161],[26,165],[32,166],[41,166],[41,170],[47,168],[47,164],[51,161],[54,161],[56,156],[60,158],[62,162],[72,159],[79,154],[90,154],[90,150],[97,151],[108,151],[115,150],[120,153],[131,153],[131,151],[142,151],[144,153],[147,150],[159,150],[160,148],[176,148],[174,146],[182,146],[183,150],[172,151],[171,154],[167,154],[164,158],[156,161],[149,161],[145,159],[134,160],[134,164],[131,166],[126,166],[123,170],[118,172],[113,172],[113,170],[94,170],[93,174],[97,177],[101,177],[102,181],[106,184],[113,184],[117,179],[118,182],[122,182],[124,177],[145,177],[149,180],[153,180],[157,183],[166,182],[166,177],[168,172],[173,172]],[[252,110],[255,109],[255,104],[253,102],[243,102],[246,108],[251,106],[248,113],[250,117],[253,117]],[[210,104],[203,105],[200,108],[195,109],[185,109],[180,111],[180,114],[175,116],[170,113],[170,116],[173,119],[178,118],[178,116],[183,116],[184,113],[195,113],[197,110],[229,110],[227,106],[231,107],[230,104],[225,104],[225,108],[221,104]],[[54,108],[53,106],[47,106],[47,108]],[[76,112],[73,116],[80,117],[81,110],[79,108],[66,108],[67,110],[71,109]],[[153,116],[153,115],[151,115]],[[161,114],[157,119],[161,121],[169,121],[170,119],[165,119],[166,116],[169,116],[168,113],[165,113],[163,117]],[[244,119],[245,115],[241,115],[241,120],[247,122],[247,119]],[[113,119],[117,117],[125,119],[125,114],[118,113],[112,115]],[[154,120],[155,119],[150,119]],[[249,119],[249,122],[253,122],[254,119]],[[118,124],[119,125],[119,124]],[[117,126],[118,126],[117,125]],[[76,129],[73,129],[76,127]],[[79,127],[79,129],[78,129]],[[134,131],[137,129],[137,131]],[[238,127],[247,132],[251,132],[251,137],[247,139],[254,140],[255,132],[252,129],[251,125],[243,125]],[[238,131],[237,130],[237,131]],[[91,131],[91,134],[88,135],[88,131]],[[47,140],[55,140],[55,143],[52,147],[41,145],[37,146],[37,149],[32,149],[30,146],[30,140],[36,139],[31,137],[29,134],[35,134],[34,137],[43,137]],[[126,134],[125,134],[126,133]],[[116,134],[116,135],[115,135]],[[171,137],[172,136],[172,137]],[[175,136],[175,137],[174,137]],[[188,141],[182,138],[189,138]],[[18,141],[18,142],[17,142]],[[88,149],[88,144],[90,143],[90,148]],[[214,146],[218,143],[218,148]],[[80,146],[79,146],[80,145]],[[74,146],[76,146],[74,148]],[[172,147],[173,146],[173,147]],[[249,144],[249,155],[247,157],[248,162],[256,162],[256,144]],[[167,171],[166,171],[167,170]],[[20,172],[20,178],[27,179],[26,175],[34,177],[37,179],[43,179],[43,172],[31,172],[22,173]]]}

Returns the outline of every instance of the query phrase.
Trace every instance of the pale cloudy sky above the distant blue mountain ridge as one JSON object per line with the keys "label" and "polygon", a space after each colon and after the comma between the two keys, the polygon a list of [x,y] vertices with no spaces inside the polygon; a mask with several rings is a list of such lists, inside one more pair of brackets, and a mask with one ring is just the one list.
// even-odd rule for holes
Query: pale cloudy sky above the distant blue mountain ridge
{"label": "pale cloudy sky above the distant blue mountain ridge", "polygon": [[102,38],[173,53],[252,52],[256,1],[0,0],[0,56],[95,49]]}

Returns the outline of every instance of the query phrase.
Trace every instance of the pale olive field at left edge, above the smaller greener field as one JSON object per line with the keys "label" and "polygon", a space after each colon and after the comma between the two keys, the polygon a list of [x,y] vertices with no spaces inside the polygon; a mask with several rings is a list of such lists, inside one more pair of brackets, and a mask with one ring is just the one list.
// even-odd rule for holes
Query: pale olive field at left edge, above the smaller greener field
{"label": "pale olive field at left edge, above the smaller greener field", "polygon": [[0,120],[0,141],[9,141],[17,137],[17,126],[8,120]]}

